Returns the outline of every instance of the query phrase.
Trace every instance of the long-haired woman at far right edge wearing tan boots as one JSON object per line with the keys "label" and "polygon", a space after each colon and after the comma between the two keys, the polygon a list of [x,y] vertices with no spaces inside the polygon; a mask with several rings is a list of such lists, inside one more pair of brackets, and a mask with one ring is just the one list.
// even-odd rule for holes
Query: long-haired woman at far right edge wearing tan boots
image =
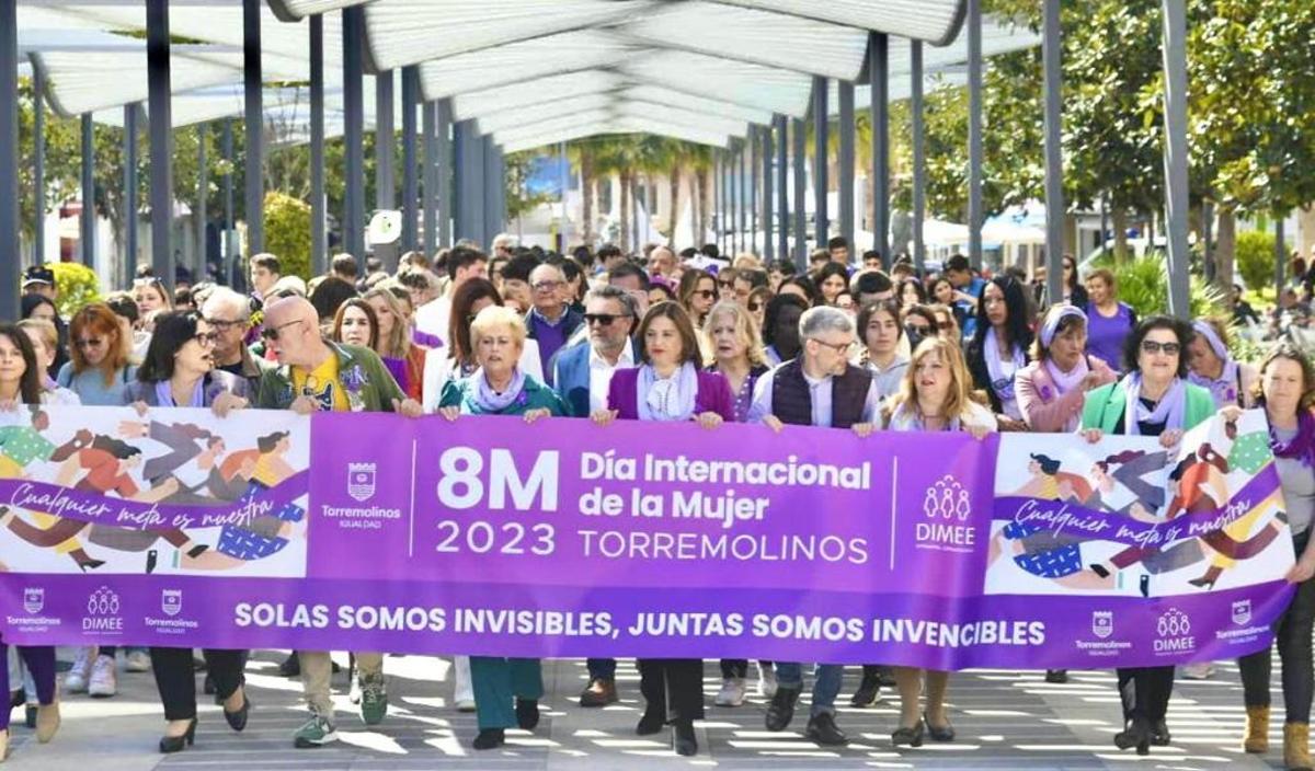
{"label": "long-haired woman at far right edge wearing tan boots", "polygon": [[[1198,322],[1199,323],[1199,322]],[[1274,641],[1283,665],[1283,766],[1310,768],[1310,715],[1312,687],[1311,630],[1315,627],[1315,548],[1311,516],[1315,514],[1315,368],[1290,343],[1277,345],[1260,366],[1257,402],[1269,419],[1269,448],[1274,453],[1287,525],[1293,533],[1297,565],[1287,581],[1297,584],[1287,609],[1277,621]],[[1227,416],[1227,412],[1226,412]],[[1243,749],[1264,754],[1269,749],[1270,650],[1257,650],[1237,659],[1247,703],[1247,736]]]}

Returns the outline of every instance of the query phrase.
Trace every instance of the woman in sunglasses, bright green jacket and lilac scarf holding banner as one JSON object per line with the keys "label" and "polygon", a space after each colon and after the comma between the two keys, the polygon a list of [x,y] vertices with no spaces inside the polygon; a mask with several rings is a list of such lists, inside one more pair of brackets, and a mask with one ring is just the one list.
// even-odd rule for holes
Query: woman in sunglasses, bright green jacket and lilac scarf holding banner
{"label": "woman in sunglasses, bright green jacket and lilac scarf holding banner", "polygon": [[[1191,326],[1186,322],[1164,315],[1143,319],[1124,343],[1127,374],[1086,395],[1086,440],[1097,443],[1106,433],[1157,436],[1161,447],[1172,449],[1184,431],[1208,420],[1215,414],[1214,398],[1187,382],[1185,353],[1190,340]],[[1112,566],[1122,565],[1114,561]],[[1091,570],[1098,575],[1111,571],[1103,563]],[[1145,755],[1151,743],[1168,745],[1165,713],[1173,694],[1173,667],[1122,667],[1118,674],[1124,730],[1114,736],[1115,746],[1136,747],[1139,755]]]}

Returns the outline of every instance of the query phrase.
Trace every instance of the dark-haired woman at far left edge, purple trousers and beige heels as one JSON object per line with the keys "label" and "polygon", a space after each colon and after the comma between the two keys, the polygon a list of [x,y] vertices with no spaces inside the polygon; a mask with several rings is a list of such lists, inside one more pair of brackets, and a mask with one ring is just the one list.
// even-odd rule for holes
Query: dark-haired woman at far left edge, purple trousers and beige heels
{"label": "dark-haired woman at far left edge, purple trousers and beige heels", "polygon": [[[13,324],[0,324],[0,410],[12,412],[21,406],[32,406],[38,410],[33,412],[33,423],[38,423],[38,416],[43,418],[39,405],[47,397],[42,385],[46,370],[37,361],[37,352],[32,347],[28,336]],[[11,426],[0,430],[0,447],[4,454],[0,456],[0,475],[12,478],[22,474],[14,454],[30,456],[33,460],[39,454],[54,451],[54,445],[45,440],[34,427]],[[41,743],[54,738],[59,730],[59,701],[55,688],[55,649],[51,645],[22,645],[18,655],[32,674],[37,686],[37,741]],[[0,696],[5,700],[12,694],[9,688],[9,646],[0,640]],[[4,762],[9,751],[9,704],[0,707],[0,763]]]}

